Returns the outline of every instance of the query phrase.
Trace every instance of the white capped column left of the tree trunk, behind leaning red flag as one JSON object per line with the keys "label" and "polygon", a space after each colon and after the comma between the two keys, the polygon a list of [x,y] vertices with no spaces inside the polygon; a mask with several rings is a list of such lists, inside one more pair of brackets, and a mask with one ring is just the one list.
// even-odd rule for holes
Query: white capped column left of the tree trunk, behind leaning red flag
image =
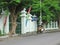
{"label": "white capped column left of the tree trunk, behind leaning red flag", "polygon": [[[2,34],[8,34],[9,33],[9,15],[10,15],[10,12],[8,12],[8,14],[7,14],[6,11],[4,11],[2,9],[1,15],[2,15],[2,19],[3,19],[2,20],[2,25],[3,25],[3,27],[2,27]],[[7,17],[7,21],[6,21],[6,25],[5,25],[5,28],[4,28],[5,17]]]}

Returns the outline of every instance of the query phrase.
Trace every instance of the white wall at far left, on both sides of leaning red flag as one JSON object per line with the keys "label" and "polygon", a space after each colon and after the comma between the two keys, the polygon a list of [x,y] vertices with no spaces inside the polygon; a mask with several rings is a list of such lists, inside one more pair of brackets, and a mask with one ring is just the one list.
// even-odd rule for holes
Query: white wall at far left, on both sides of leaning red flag
{"label": "white wall at far left, on both sides of leaning red flag", "polygon": [[[0,18],[0,30],[1,30],[1,33],[2,33],[2,34],[3,34],[4,19],[5,19],[5,16],[3,15],[3,16]],[[6,34],[9,33],[9,16],[7,17],[7,22],[6,22],[6,26],[5,26],[5,33],[6,33]]]}

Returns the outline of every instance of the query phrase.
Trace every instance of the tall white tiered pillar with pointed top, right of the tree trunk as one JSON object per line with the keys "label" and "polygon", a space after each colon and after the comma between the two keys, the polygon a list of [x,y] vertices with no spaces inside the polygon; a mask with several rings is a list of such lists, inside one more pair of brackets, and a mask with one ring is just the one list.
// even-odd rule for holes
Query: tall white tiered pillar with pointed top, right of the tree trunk
{"label": "tall white tiered pillar with pointed top, right of the tree trunk", "polygon": [[21,11],[21,34],[26,33],[26,9]]}

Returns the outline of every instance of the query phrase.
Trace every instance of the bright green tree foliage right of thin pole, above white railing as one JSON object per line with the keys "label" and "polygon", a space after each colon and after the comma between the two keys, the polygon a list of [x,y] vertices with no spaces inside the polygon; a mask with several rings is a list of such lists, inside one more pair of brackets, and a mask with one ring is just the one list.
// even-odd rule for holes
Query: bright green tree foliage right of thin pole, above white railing
{"label": "bright green tree foliage right of thin pole, above white railing", "polygon": [[60,11],[60,1],[59,0],[42,0],[41,7],[43,21],[49,22],[51,20],[58,19],[58,12]]}

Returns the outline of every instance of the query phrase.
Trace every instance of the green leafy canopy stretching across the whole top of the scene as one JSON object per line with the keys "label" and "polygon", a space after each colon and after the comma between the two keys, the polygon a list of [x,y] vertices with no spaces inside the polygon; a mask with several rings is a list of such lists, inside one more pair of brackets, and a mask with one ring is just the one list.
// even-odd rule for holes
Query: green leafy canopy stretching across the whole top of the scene
{"label": "green leafy canopy stretching across the whole top of the scene", "polygon": [[50,20],[56,20],[56,15],[60,11],[60,0],[0,0],[0,8],[9,9],[12,12],[14,9],[15,14],[23,8],[32,7],[31,13],[40,16],[40,10],[42,11],[43,20],[49,22]]}

